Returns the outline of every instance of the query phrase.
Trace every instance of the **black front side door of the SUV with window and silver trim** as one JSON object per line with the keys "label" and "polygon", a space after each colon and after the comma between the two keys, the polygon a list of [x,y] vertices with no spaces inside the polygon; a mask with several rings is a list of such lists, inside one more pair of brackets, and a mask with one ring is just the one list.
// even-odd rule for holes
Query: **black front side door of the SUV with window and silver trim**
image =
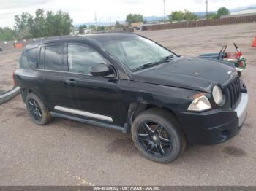
{"label": "black front side door of the SUV with window and silver trim", "polygon": [[[77,117],[118,124],[117,77],[93,77],[91,67],[110,63],[97,50],[86,44],[67,44],[68,73],[64,79],[76,104],[67,111]],[[73,109],[73,110],[72,110]]]}

